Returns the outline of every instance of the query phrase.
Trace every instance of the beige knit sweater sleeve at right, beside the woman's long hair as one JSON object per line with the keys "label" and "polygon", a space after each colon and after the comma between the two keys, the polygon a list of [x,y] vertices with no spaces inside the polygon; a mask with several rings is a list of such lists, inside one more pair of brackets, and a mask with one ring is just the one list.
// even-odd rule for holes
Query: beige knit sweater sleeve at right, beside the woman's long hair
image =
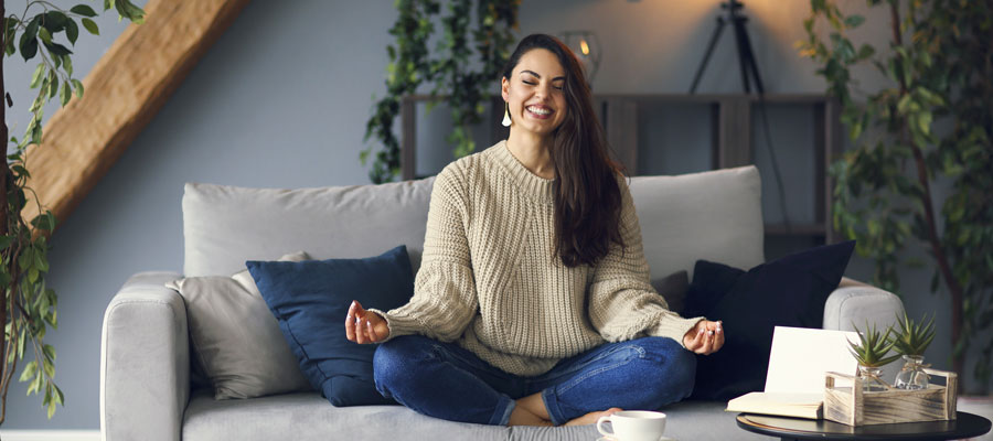
{"label": "beige knit sweater sleeve at right, beside the woman's long hair", "polygon": [[665,300],[652,288],[634,202],[627,182],[620,179],[619,184],[624,248],[615,245],[592,269],[587,292],[590,323],[608,342],[651,335],[670,337],[682,345],[683,335],[703,318],[683,319],[669,311]]}

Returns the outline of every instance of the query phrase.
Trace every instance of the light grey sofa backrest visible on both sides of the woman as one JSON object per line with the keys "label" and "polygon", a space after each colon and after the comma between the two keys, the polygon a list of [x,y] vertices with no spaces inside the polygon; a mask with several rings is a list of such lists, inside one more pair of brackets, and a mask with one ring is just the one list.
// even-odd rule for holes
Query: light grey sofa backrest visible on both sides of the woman
{"label": "light grey sofa backrest visible on both sides of the woman", "polygon": [[[232,275],[245,260],[293,251],[360,258],[407,246],[420,265],[434,179],[323,189],[186,184],[185,276]],[[631,195],[653,279],[696,259],[750,268],[764,261],[761,181],[755,166],[637,176]]]}

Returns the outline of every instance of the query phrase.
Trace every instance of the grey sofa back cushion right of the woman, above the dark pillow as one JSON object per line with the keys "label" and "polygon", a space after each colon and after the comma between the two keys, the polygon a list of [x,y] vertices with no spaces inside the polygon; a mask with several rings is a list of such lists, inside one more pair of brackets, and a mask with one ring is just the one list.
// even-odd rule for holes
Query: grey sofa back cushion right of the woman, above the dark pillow
{"label": "grey sofa back cushion right of the woman, above the dark pillow", "polygon": [[754,165],[677,176],[636,176],[631,196],[652,278],[698,259],[751,268],[765,261],[761,179]]}

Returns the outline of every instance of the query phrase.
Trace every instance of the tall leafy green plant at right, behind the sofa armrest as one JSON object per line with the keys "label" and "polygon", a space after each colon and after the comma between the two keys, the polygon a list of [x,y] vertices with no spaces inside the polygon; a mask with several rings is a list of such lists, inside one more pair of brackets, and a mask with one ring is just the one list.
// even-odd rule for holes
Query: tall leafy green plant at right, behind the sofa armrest
{"label": "tall leafy green plant at right, behind the sofa armrest", "polygon": [[[831,168],[834,226],[858,240],[876,261],[874,282],[894,292],[897,269],[920,266],[907,258],[911,247],[930,255],[931,292],[943,282],[950,298],[953,368],[964,380],[967,351],[979,347],[972,373],[982,390],[993,372],[993,341],[982,340],[993,323],[993,3],[867,3],[888,10],[888,23],[873,23],[889,30],[887,46],[856,45],[850,34],[865,19],[829,0],[811,0],[799,43],[821,65],[855,144]],[[888,86],[857,88],[850,71],[866,63]]]}

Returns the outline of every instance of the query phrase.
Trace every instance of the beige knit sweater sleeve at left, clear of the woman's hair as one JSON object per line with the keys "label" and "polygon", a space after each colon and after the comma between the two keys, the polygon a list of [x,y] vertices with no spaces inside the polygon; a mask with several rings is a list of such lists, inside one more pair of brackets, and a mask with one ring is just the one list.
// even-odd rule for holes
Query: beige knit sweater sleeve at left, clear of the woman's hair
{"label": "beige knit sweater sleeve at left, clear of the woman's hair", "polygon": [[469,226],[468,185],[465,175],[449,165],[431,190],[424,258],[414,280],[410,301],[383,315],[389,338],[421,334],[442,342],[462,335],[476,315],[476,281],[469,261],[466,232]]}

